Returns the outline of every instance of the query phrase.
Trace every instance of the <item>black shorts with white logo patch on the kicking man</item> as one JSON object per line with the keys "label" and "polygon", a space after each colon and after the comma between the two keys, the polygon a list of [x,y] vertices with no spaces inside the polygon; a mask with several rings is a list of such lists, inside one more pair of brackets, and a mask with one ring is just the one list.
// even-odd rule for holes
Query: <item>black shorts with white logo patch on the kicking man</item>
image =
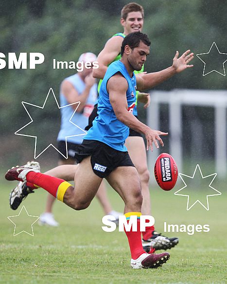
{"label": "black shorts with white logo patch on the kicking man", "polygon": [[101,178],[108,176],[117,167],[135,167],[127,151],[118,151],[103,142],[84,139],[75,153],[75,160],[80,163],[88,156],[91,156],[92,170]]}

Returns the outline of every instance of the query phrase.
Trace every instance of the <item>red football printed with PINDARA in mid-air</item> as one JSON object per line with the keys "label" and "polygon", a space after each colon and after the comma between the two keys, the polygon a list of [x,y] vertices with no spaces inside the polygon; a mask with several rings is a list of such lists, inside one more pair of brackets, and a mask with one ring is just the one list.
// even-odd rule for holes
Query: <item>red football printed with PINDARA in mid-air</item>
{"label": "red football printed with PINDARA in mid-air", "polygon": [[168,153],[162,153],[155,163],[155,178],[161,189],[171,190],[174,188],[178,170],[174,158]]}

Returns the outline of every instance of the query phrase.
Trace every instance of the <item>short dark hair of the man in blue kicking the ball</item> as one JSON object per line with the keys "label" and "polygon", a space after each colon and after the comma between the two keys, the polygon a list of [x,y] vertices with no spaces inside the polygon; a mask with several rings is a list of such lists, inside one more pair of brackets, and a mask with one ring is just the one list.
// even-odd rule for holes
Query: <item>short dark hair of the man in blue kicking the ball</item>
{"label": "short dark hair of the man in blue kicking the ball", "polygon": [[125,45],[128,45],[131,49],[134,49],[135,47],[138,47],[140,45],[140,41],[142,41],[147,46],[151,45],[148,36],[143,33],[133,32],[128,34],[122,41],[121,56],[124,53]]}

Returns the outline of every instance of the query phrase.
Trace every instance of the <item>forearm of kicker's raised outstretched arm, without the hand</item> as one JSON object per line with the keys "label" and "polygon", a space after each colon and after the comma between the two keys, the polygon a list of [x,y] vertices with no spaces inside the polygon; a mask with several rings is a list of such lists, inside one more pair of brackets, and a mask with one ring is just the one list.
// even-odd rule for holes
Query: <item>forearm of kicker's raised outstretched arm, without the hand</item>
{"label": "forearm of kicker's raised outstretched arm, without the hand", "polygon": [[142,76],[144,84],[142,86],[142,89],[139,89],[139,90],[144,91],[144,90],[153,88],[159,85],[160,83],[164,82],[165,80],[173,77],[175,74],[176,74],[176,71],[173,66],[166,68],[164,70],[161,70],[159,72],[144,74]]}

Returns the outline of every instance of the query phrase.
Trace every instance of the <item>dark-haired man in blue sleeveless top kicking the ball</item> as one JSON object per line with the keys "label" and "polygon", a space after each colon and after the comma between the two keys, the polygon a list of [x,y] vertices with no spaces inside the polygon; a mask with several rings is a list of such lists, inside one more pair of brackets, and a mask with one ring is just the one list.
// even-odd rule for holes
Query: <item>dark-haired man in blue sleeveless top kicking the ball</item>
{"label": "dark-haired man in blue sleeveless top kicking the ball", "polygon": [[[138,76],[136,79],[133,73],[142,68],[149,54],[149,46],[150,41],[146,35],[140,32],[129,34],[122,42],[122,59],[108,67],[100,89],[99,116],[75,154],[80,164],[75,174],[74,187],[65,180],[40,173],[35,166],[16,167],[9,170],[5,178],[38,185],[75,210],[89,206],[103,178],[106,178],[122,197],[125,216],[137,215],[140,225],[140,178],[124,146],[129,134],[128,127],[144,133],[147,149],[151,148],[152,151],[153,142],[158,148],[157,140],[163,146],[159,135],[168,134],[150,129],[132,114],[136,102],[136,86],[142,91],[152,85],[152,74]],[[178,54],[175,58],[177,56]],[[181,72],[182,68],[192,67],[187,65],[191,61],[191,55],[185,53],[183,59],[185,64],[178,64],[175,60],[173,66],[165,70],[166,78]],[[99,166],[102,170],[99,170]],[[155,268],[162,265],[169,259],[169,253],[146,253],[142,248],[139,227],[135,232],[125,232],[131,251],[131,266]]]}

